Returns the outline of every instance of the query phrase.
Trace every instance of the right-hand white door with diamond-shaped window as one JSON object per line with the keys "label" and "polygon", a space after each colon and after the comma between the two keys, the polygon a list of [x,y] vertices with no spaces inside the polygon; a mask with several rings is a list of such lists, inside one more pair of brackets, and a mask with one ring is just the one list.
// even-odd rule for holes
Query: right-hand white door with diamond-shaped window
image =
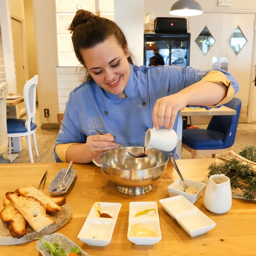
{"label": "right-hand white door with diamond-shaped window", "polygon": [[[242,101],[239,119],[242,123],[247,121],[254,19],[254,14],[224,14],[222,17],[222,37],[224,41],[221,56],[229,59],[228,71],[235,76],[239,83],[239,92],[235,97]],[[232,40],[230,41],[229,38]],[[230,43],[233,49],[230,47]]]}

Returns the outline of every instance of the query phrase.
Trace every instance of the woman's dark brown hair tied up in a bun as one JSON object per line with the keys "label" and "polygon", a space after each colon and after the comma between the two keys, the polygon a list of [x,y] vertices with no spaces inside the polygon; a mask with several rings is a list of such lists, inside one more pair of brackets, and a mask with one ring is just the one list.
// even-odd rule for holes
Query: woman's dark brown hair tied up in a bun
{"label": "woman's dark brown hair tied up in a bun", "polygon": [[[80,52],[81,49],[93,48],[113,35],[116,37],[116,40],[123,51],[125,52],[127,49],[127,40],[122,29],[120,29],[114,21],[99,17],[99,15],[99,11],[96,11],[96,14],[93,14],[92,12],[80,9],[76,12],[75,17],[68,28],[70,34],[72,34],[72,42],[76,58],[78,58],[79,62],[85,67],[84,82],[92,78],[86,69]],[[131,53],[127,59],[128,62],[133,64],[133,56]]]}

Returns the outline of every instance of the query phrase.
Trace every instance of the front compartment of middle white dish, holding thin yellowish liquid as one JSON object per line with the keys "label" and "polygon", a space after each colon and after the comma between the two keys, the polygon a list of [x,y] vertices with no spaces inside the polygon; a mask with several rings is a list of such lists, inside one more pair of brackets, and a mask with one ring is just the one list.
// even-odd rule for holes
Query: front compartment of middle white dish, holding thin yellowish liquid
{"label": "front compartment of middle white dish, holding thin yellowish liquid", "polygon": [[129,219],[127,238],[137,245],[153,245],[161,241],[159,219]]}

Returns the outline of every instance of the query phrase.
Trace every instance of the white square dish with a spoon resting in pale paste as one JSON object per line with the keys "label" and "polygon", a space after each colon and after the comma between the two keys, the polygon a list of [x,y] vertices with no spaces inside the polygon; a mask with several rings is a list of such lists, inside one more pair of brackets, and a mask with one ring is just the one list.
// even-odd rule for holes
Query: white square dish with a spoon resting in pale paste
{"label": "white square dish with a spoon resting in pale paste", "polygon": [[197,194],[193,195],[193,194],[189,194],[187,192],[183,192],[181,190],[183,183],[182,183],[181,179],[179,178],[178,180],[176,180],[174,183],[172,183],[168,187],[169,196],[175,197],[177,195],[183,195],[184,197],[187,198],[187,200],[189,200],[192,204],[194,204],[204,194],[204,191],[206,189],[206,184],[204,184],[202,182],[194,181],[194,180],[188,180],[188,179],[184,179],[184,181],[188,186],[196,189]]}

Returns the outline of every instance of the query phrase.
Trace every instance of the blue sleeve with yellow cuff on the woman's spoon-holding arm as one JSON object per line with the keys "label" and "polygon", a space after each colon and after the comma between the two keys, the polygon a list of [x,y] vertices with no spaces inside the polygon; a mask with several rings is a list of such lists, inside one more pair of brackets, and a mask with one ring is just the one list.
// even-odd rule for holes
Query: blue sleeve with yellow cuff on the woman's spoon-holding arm
{"label": "blue sleeve with yellow cuff on the woman's spoon-holding arm", "polygon": [[56,162],[66,162],[66,152],[74,143],[85,143],[87,136],[81,132],[79,108],[75,91],[69,94],[61,127],[55,142],[54,154]]}

